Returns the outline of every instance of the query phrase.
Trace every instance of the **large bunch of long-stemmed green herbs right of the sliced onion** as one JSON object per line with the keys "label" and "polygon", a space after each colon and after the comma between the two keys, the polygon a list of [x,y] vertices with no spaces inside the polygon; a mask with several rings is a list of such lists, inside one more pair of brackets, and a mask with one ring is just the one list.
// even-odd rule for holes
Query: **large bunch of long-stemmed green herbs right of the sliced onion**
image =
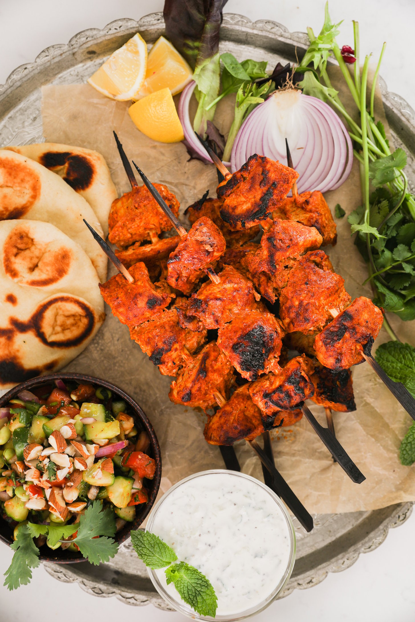
{"label": "large bunch of long-stemmed green herbs right of the sliced onion", "polygon": [[[393,153],[389,149],[385,129],[375,119],[375,89],[380,64],[385,52],[383,45],[370,93],[367,88],[370,57],[366,56],[360,74],[359,25],[353,22],[354,56],[342,53],[337,44],[338,27],[333,24],[328,3],[320,34],[315,37],[307,29],[310,45],[297,72],[304,73],[299,86],[306,95],[327,101],[348,124],[353,141],[353,154],[360,162],[363,204],[348,216],[356,244],[368,264],[375,304],[397,313],[403,320],[415,318],[415,197],[408,192],[408,178],[404,172],[406,154],[403,149]],[[327,62],[334,57],[343,78],[352,93],[360,121],[357,123],[345,109],[327,74]],[[347,63],[354,59],[353,73]],[[367,103],[369,102],[369,103]],[[371,192],[370,185],[375,189]],[[385,319],[389,335],[396,336]]]}

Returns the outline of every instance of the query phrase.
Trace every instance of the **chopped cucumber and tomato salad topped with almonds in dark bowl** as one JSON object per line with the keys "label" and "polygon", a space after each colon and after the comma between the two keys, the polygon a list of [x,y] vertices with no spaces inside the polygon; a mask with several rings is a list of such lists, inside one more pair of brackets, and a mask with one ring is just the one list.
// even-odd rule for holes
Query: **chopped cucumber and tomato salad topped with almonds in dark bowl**
{"label": "chopped cucumber and tomato salad topped with almonds in dark bowl", "polygon": [[[82,552],[71,527],[91,505],[113,515],[115,531],[134,521],[156,463],[128,411],[109,389],[62,380],[22,391],[0,409],[0,508],[15,541],[26,524],[40,534],[36,547]],[[63,536],[73,533],[47,537],[58,526],[68,526]]]}

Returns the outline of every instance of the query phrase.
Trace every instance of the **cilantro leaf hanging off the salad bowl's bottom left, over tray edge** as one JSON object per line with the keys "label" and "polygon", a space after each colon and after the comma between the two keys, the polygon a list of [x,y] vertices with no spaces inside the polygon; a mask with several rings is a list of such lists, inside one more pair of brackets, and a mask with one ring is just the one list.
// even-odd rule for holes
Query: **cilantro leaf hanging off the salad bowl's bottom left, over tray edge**
{"label": "cilantro leaf hanging off the salad bowl's bottom left, over tray edge", "polygon": [[17,530],[16,540],[10,547],[14,550],[11,565],[7,568],[3,585],[9,590],[16,590],[20,585],[27,585],[32,578],[31,568],[39,566],[39,549],[30,536],[27,525]]}

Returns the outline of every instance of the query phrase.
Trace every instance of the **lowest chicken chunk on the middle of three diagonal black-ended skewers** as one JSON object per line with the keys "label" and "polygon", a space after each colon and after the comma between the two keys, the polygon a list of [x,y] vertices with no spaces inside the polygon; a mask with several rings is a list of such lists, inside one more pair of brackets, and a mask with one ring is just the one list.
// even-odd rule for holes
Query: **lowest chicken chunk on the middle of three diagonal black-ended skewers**
{"label": "lowest chicken chunk on the middle of three diagonal black-ended skewers", "polygon": [[276,411],[290,411],[302,406],[314,395],[310,380],[312,365],[305,356],[292,358],[277,374],[268,374],[249,386],[252,401],[266,415]]}

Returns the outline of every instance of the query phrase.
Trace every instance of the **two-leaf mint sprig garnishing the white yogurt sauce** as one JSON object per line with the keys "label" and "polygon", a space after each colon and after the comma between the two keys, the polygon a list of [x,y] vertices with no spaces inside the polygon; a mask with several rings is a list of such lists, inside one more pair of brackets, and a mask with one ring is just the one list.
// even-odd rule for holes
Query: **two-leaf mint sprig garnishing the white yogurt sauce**
{"label": "two-leaf mint sprig garnishing the white yogurt sauce", "polygon": [[180,598],[202,616],[215,618],[218,598],[212,583],[205,575],[185,562],[172,564],[177,560],[174,550],[156,534],[149,531],[132,531],[131,542],[138,557],[149,568],[166,568],[167,585],[174,583]]}

